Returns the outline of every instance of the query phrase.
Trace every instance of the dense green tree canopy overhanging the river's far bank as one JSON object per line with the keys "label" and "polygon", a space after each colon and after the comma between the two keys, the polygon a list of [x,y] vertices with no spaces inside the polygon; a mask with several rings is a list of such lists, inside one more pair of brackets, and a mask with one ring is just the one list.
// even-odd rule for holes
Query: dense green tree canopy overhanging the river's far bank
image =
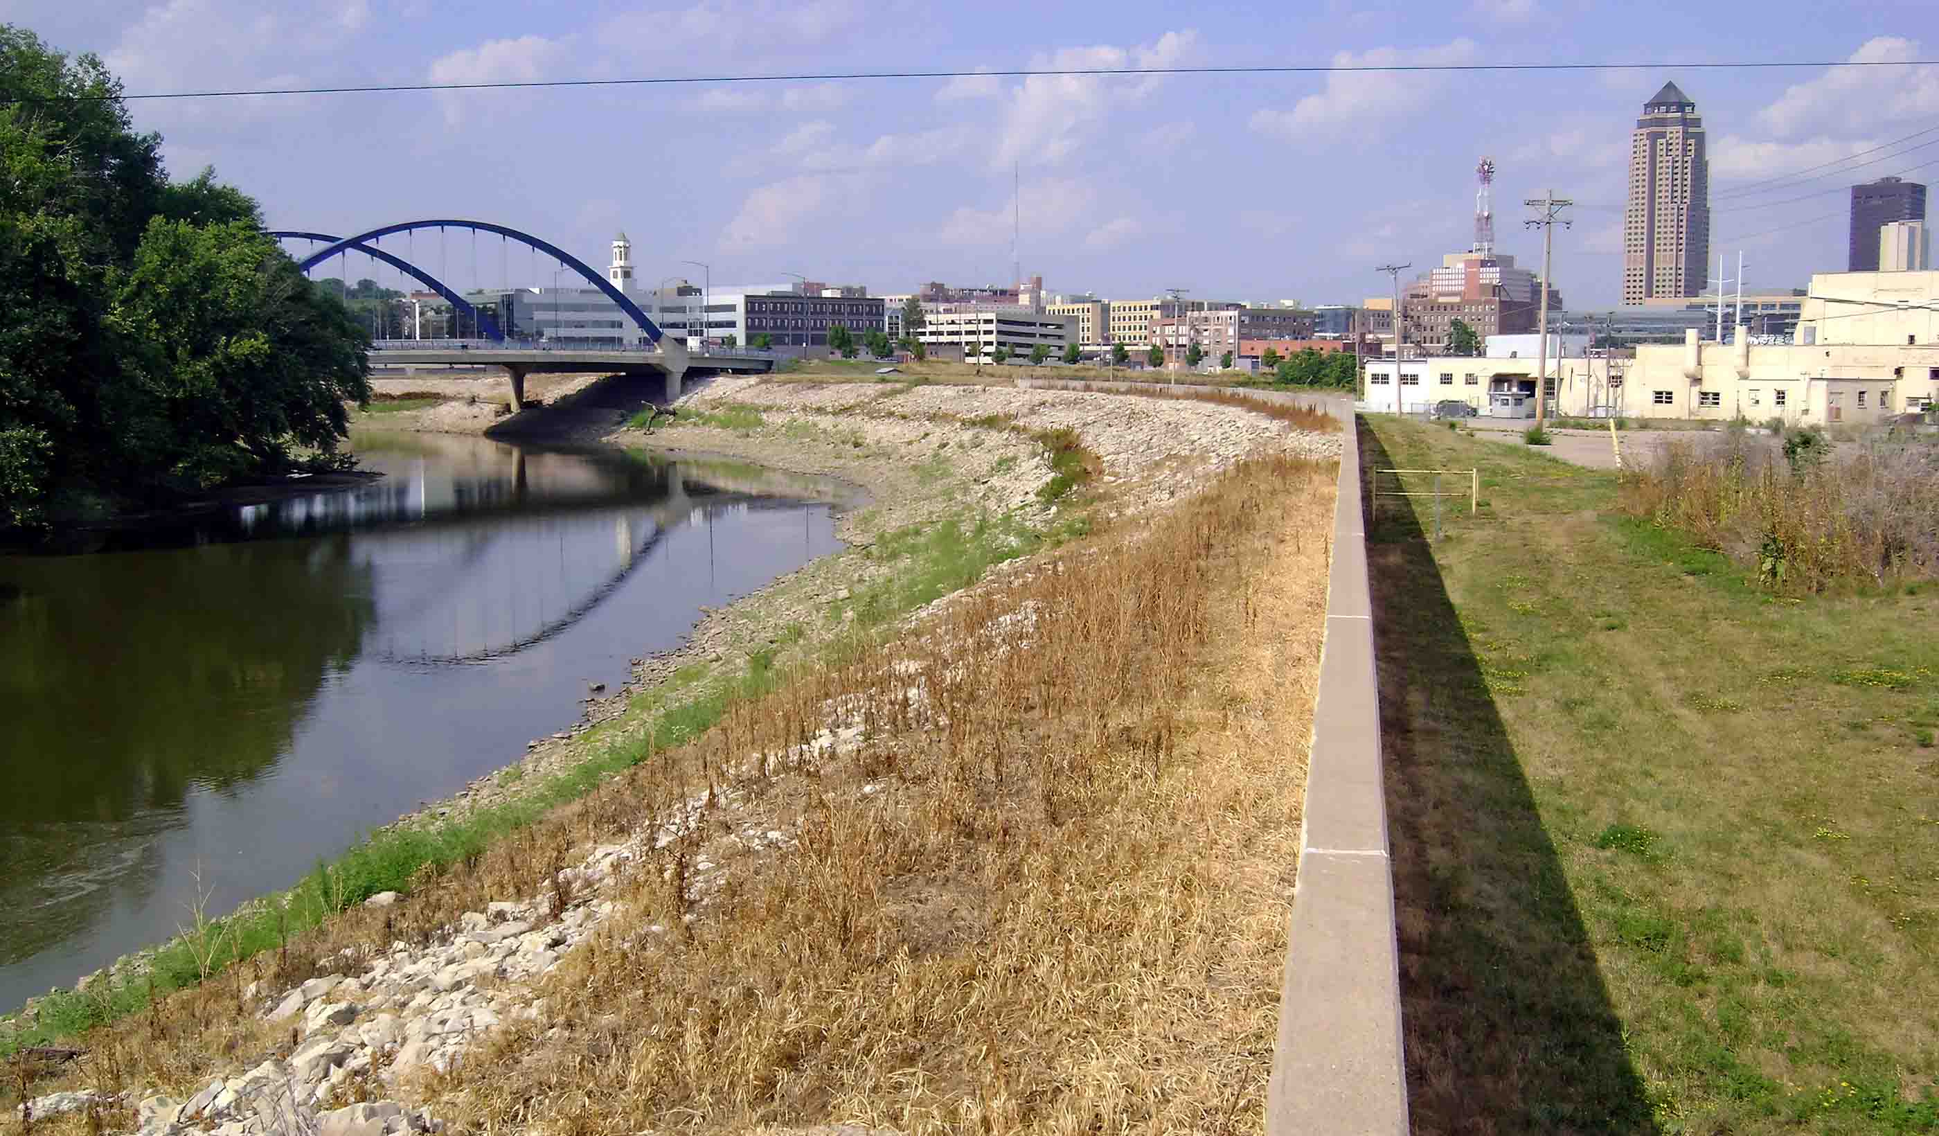
{"label": "dense green tree canopy overhanging the river's far bank", "polygon": [[0,25],[0,527],[328,458],[368,399],[343,304],[159,145],[99,58]]}

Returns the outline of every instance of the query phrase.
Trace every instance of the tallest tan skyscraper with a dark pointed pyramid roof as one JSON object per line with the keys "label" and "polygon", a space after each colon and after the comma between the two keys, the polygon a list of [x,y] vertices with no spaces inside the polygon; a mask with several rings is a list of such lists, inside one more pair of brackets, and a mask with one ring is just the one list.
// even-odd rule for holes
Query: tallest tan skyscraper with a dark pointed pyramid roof
{"label": "tallest tan skyscraper with a dark pointed pyramid roof", "polygon": [[1664,83],[1629,143],[1623,302],[1695,297],[1710,283],[1710,159],[1697,103]]}

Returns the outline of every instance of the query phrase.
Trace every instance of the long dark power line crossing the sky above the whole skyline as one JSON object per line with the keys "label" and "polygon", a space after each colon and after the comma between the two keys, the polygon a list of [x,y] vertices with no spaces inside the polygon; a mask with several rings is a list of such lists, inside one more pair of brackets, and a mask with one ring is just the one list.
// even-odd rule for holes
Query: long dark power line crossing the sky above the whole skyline
{"label": "long dark power line crossing the sky above the whole skyline", "polygon": [[1421,72],[1629,72],[1629,70],[1797,70],[1797,68],[1929,68],[1939,60],[1737,60],[1710,64],[1293,64],[1293,66],[1231,66],[1231,68],[1018,68],[1002,72],[826,72],[772,76],[636,76],[624,79],[506,79],[489,83],[370,83],[334,87],[244,87],[229,91],[147,91],[118,95],[50,95],[0,99],[0,107],[31,103],[107,103],[153,99],[250,99],[266,95],[380,95],[407,91],[514,91],[545,87],[642,87],[642,85],[715,85],[715,83],[840,83],[857,79],[1020,79],[1066,76],[1332,76],[1332,74],[1421,74]]}

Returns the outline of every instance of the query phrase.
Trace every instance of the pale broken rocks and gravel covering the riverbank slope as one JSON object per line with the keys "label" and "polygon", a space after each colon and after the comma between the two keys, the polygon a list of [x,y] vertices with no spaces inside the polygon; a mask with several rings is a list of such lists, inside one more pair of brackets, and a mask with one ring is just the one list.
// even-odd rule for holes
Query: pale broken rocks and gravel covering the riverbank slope
{"label": "pale broken rocks and gravel covering the riverbank slope", "polygon": [[[869,597],[906,582],[915,562],[907,545],[937,525],[1004,518],[1016,533],[1041,533],[1059,523],[1068,502],[1043,492],[1055,471],[1041,434],[1072,430],[1082,438],[1101,465],[1099,506],[1111,514],[1163,508],[1247,456],[1338,456],[1336,436],[1289,430],[1245,409],[1101,394],[735,378],[690,394],[677,409],[675,425],[652,434],[607,425],[597,438],[857,485],[867,504],[838,520],[849,551],[708,613],[686,646],[636,661],[634,680],[591,700],[580,723],[529,742],[524,760],[399,824],[438,824],[508,803],[599,746],[653,729],[669,704],[667,688],[690,692],[739,678],[756,657],[764,667],[812,657],[867,618],[857,609]],[[584,421],[574,428],[574,440],[588,440]],[[863,733],[863,708],[830,706],[803,744],[836,752]],[[613,913],[619,888],[640,886],[634,868],[648,853],[690,843],[677,884],[698,905],[729,870],[785,855],[793,839],[785,808],[743,795],[729,779],[684,812],[653,818],[632,839],[584,849],[539,892],[491,898],[415,946],[396,938],[386,950],[351,948],[320,963],[316,977],[281,989],[250,983],[242,989],[256,1024],[248,1035],[268,1049],[231,1053],[217,1062],[229,1066],[223,1076],[122,1088],[68,1074],[48,1086],[60,1091],[23,1105],[43,1120],[68,1117],[68,1124],[99,1130],[105,1122],[145,1136],[434,1132],[440,1078],[473,1047],[489,1045],[496,1029],[547,1020],[537,983]],[[370,898],[359,917],[368,923],[380,913],[388,929],[396,903],[390,894]],[[653,925],[646,934],[673,931]]]}

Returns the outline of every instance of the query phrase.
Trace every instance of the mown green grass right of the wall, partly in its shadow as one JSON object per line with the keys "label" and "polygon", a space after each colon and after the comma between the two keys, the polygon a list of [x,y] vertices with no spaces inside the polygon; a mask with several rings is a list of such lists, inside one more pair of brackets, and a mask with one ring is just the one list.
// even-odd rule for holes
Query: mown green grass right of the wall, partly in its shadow
{"label": "mown green grass right of the wall, partly in its shadow", "polygon": [[1363,440],[1485,498],[1369,531],[1415,1124],[1939,1130],[1933,601],[1774,597],[1613,473]]}

